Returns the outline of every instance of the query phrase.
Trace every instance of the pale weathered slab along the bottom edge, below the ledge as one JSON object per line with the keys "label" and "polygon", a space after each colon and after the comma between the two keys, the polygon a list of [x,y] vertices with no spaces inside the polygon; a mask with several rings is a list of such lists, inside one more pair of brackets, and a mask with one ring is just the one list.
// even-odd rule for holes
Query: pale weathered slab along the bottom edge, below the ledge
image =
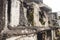
{"label": "pale weathered slab along the bottom edge, below the ledge", "polygon": [[7,38],[6,40],[37,40],[37,35],[36,34],[22,35],[22,36]]}

